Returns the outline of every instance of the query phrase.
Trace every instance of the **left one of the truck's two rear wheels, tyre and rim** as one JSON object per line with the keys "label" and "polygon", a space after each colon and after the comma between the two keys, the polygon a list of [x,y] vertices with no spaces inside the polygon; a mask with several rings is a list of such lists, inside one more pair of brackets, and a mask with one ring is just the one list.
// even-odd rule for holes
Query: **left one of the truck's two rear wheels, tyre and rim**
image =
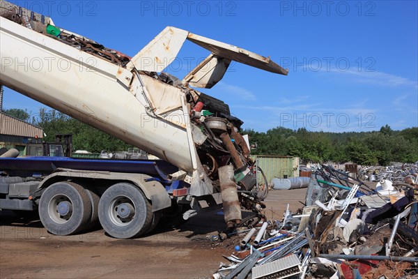
{"label": "left one of the truck's two rear wheels, tyre and rim", "polygon": [[57,182],[49,186],[39,202],[42,225],[57,235],[82,231],[91,219],[91,202],[82,186]]}

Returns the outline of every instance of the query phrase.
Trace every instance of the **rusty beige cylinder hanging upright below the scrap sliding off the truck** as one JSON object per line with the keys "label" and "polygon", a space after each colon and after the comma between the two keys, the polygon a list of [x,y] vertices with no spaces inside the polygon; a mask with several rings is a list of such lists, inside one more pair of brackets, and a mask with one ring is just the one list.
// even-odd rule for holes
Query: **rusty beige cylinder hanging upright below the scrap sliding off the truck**
{"label": "rusty beige cylinder hanging upright below the scrap sliding off the truck", "polygon": [[240,223],[242,219],[237,186],[233,180],[233,165],[219,167],[218,175],[221,184],[225,222],[228,227],[233,227],[234,224]]}

